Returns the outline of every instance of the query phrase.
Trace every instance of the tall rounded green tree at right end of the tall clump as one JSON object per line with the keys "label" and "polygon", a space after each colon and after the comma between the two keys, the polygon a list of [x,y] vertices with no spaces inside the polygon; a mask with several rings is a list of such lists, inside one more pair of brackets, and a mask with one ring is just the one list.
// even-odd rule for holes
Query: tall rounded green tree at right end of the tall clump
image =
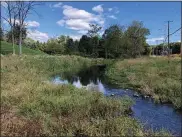
{"label": "tall rounded green tree at right end of the tall clump", "polygon": [[150,34],[149,29],[142,22],[133,21],[125,32],[127,45],[132,57],[140,56],[146,46],[146,36]]}

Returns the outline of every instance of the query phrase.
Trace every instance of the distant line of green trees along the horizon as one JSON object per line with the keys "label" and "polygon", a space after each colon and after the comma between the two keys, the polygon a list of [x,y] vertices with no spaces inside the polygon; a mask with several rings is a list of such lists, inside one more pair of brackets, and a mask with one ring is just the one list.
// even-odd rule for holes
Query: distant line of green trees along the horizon
{"label": "distant line of green trees along the horizon", "polygon": [[[27,38],[27,30],[23,28],[23,45],[35,50],[41,50],[50,55],[74,54],[85,57],[102,58],[135,58],[141,55],[160,55],[163,45],[149,46],[146,43],[146,36],[150,34],[142,22],[133,21],[128,27],[111,25],[103,35],[99,35],[102,30],[97,24],[90,24],[90,30],[79,40],[73,40],[69,36],[61,35],[51,38],[47,42],[41,43]],[[1,32],[1,40],[11,42],[10,30],[8,33]],[[18,42],[19,26],[14,30],[15,43]],[[18,44],[18,43],[17,43]],[[180,53],[180,43],[171,43],[173,54]],[[152,49],[153,48],[153,49]],[[164,46],[164,48],[166,48]]]}

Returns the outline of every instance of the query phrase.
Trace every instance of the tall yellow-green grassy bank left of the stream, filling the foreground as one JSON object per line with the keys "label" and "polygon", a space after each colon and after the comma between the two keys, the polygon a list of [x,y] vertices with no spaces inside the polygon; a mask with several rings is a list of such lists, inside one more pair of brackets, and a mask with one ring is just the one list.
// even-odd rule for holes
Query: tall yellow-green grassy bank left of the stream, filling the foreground
{"label": "tall yellow-green grassy bank left of the stream, filling the foreground", "polygon": [[143,132],[126,113],[133,104],[128,97],[106,98],[48,82],[56,73],[76,73],[103,62],[78,56],[1,57],[1,135],[169,135]]}

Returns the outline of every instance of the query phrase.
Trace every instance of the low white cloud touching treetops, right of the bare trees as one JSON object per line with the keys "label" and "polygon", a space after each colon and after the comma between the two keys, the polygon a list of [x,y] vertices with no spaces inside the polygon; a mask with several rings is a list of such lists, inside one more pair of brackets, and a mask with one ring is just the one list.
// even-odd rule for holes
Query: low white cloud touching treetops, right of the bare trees
{"label": "low white cloud touching treetops, right of the bare trees", "polygon": [[47,40],[49,39],[49,36],[47,33],[43,33],[38,30],[34,30],[34,31],[28,30],[27,37],[36,41],[38,40],[40,42],[47,42]]}

